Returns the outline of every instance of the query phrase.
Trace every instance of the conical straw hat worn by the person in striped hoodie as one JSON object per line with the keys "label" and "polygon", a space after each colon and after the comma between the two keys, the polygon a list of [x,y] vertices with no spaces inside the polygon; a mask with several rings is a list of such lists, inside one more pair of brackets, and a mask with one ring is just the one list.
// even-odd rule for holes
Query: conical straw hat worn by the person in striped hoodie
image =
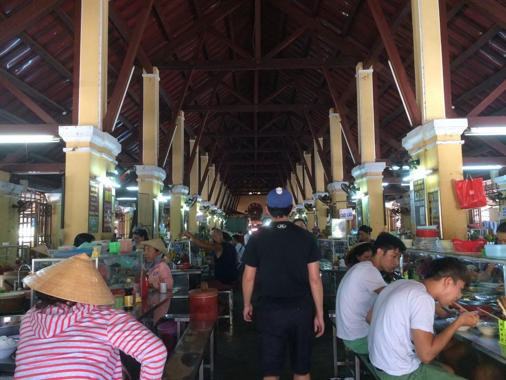
{"label": "conical straw hat worn by the person in striped hoodie", "polygon": [[114,296],[86,253],[80,253],[23,279],[41,293],[74,302],[112,305]]}

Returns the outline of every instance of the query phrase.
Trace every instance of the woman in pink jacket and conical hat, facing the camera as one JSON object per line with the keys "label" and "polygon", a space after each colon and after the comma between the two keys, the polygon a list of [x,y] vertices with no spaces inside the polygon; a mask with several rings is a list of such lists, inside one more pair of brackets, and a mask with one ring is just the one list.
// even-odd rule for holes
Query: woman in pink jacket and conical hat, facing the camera
{"label": "woman in pink jacket and conical hat, facing the camera", "polygon": [[167,248],[161,239],[148,240],[139,243],[139,248],[144,251],[144,271],[148,277],[148,286],[160,289],[160,282],[167,284],[167,289],[172,289],[174,280],[171,269],[163,260]]}

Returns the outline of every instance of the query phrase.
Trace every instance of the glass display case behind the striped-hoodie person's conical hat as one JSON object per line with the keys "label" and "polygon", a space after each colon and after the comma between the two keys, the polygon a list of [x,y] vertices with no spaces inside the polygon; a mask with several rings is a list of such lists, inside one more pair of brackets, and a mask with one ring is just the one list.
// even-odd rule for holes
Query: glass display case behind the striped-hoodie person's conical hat
{"label": "glass display case behind the striped-hoodie person's conical hat", "polygon": [[[67,258],[34,258],[32,259],[32,271],[39,271],[62,260],[67,260]],[[92,257],[92,260],[95,261],[98,271],[113,294],[123,290],[126,278],[132,278],[133,282],[137,284],[142,278],[143,255],[141,251],[120,254],[107,253],[97,258]],[[141,286],[138,289],[139,292],[142,291]],[[30,305],[35,305],[37,300],[35,292],[32,290]]]}

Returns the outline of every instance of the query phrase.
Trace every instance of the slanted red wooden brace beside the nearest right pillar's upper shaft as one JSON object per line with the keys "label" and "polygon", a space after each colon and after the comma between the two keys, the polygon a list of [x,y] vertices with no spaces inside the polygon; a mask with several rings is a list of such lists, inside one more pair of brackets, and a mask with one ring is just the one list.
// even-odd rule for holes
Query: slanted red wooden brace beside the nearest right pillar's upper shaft
{"label": "slanted red wooden brace beside the nearest right pillar's upper shaft", "polygon": [[383,43],[385,44],[388,57],[392,62],[392,67],[394,68],[395,77],[397,79],[397,83],[401,92],[400,95],[403,97],[404,103],[406,104],[409,118],[411,119],[413,126],[419,126],[421,125],[420,109],[416,103],[416,97],[414,95],[413,89],[409,84],[406,70],[402,65],[402,60],[399,55],[399,51],[397,50],[397,46],[395,45],[394,37],[390,32],[387,20],[385,19],[385,15],[381,9],[381,4],[375,0],[367,0],[367,3],[369,4],[369,8],[379,30],[379,34],[381,34]]}

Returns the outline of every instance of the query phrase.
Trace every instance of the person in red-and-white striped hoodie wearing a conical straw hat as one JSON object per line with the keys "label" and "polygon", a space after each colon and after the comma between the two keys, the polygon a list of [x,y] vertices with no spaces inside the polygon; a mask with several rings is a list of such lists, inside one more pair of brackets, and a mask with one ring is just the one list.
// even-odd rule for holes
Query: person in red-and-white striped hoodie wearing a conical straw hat
{"label": "person in red-and-white striped hoodie wearing a conical straw hat", "polygon": [[109,306],[114,297],[86,254],[23,282],[45,296],[21,322],[16,380],[121,380],[119,350],[141,363],[141,379],[161,378],[167,357],[162,341]]}

